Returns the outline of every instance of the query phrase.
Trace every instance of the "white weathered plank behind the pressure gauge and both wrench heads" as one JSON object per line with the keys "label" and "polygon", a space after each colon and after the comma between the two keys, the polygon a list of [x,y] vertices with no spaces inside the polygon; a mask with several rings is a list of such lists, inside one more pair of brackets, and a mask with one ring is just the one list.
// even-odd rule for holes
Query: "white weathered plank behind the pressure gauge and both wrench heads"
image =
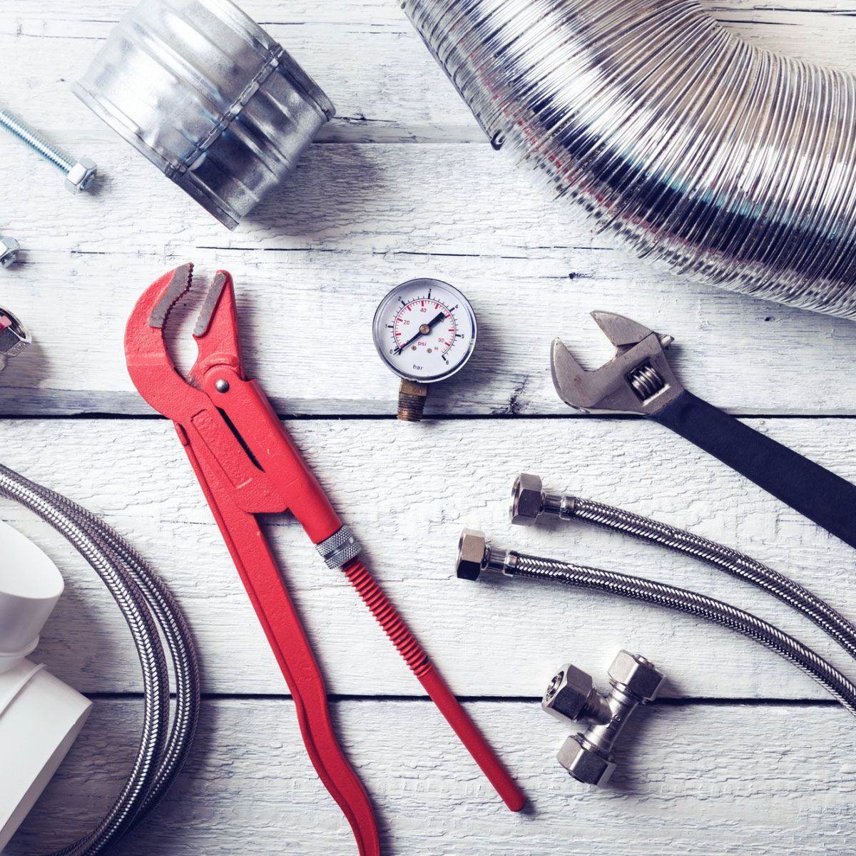
{"label": "white weathered plank behind the pressure gauge and both wrench heads", "polygon": [[187,259],[202,282],[217,266],[235,274],[247,359],[282,413],[395,412],[371,322],[413,276],[456,283],[481,322],[472,365],[432,392],[429,413],[568,413],[550,340],[597,365],[598,308],[675,336],[687,386],[734,412],[856,413],[856,325],[651,270],[489,147],[315,146],[235,235],[122,152],[95,199],[48,173],[3,206],[27,254],[3,271],[0,300],[39,348],[3,373],[0,413],[148,412],[125,370],[124,324],[142,289]]}

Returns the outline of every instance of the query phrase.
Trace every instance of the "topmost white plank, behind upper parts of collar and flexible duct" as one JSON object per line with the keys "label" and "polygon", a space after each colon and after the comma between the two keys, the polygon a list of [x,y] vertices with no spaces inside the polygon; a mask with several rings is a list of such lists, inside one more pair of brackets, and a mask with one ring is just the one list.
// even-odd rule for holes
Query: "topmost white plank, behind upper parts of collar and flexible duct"
{"label": "topmost white plank, behind upper parts of collar and flexible duct", "polygon": [[[818,62],[853,68],[853,0],[805,4],[705,0],[746,38]],[[110,134],[68,92],[124,9],[133,3],[4,0],[3,98],[73,139]],[[248,0],[241,6],[304,64],[339,118],[324,140],[467,140],[484,135],[391,0]],[[118,140],[116,140],[118,142]],[[125,145],[124,143],[121,144]]]}

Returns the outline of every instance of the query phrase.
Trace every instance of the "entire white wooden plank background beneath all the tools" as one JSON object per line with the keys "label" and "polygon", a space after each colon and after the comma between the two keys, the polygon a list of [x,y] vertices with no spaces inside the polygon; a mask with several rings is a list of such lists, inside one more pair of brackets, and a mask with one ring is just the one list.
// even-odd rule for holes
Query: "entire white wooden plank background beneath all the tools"
{"label": "entire white wooden plank background beneath all the tools", "polygon": [[[704,2],[759,45],[856,68],[856,0]],[[289,427],[455,692],[495,699],[468,706],[532,796],[529,815],[498,805],[431,704],[404,698],[419,687],[354,593],[296,526],[271,518],[265,530],[330,690],[359,697],[334,708],[383,819],[385,853],[852,853],[851,720],[793,667],[683,616],[586,592],[467,584],[452,567],[461,527],[480,526],[502,546],[609,564],[755,609],[848,669],[807,622],[703,566],[586,528],[513,529],[508,485],[526,468],[558,489],[691,527],[851,615],[846,547],[656,425],[329,417],[393,413],[395,379],[373,353],[369,320],[386,289],[412,276],[461,286],[482,324],[473,365],[432,396],[437,417],[568,415],[551,388],[547,347],[562,335],[588,365],[605,359],[586,318],[593,308],[675,335],[687,386],[734,413],[849,416],[853,324],[661,275],[592,235],[486,145],[388,0],[242,3],[319,80],[339,116],[282,193],[229,233],[69,92],[130,5],[0,0],[2,100],[96,158],[104,175],[99,193],[72,199],[47,165],[0,137],[0,230],[27,250],[21,265],[0,271],[0,304],[39,341],[0,377],[0,414],[146,413],[121,346],[134,299],[186,259],[203,279],[229,268],[251,370],[280,412],[328,417]],[[360,335],[317,347],[319,330],[354,318],[366,319]],[[180,348],[184,365],[191,350]],[[856,479],[853,419],[751,424]],[[193,623],[205,693],[228,695],[206,701],[193,762],[169,804],[117,852],[353,853],[169,424],[3,419],[0,449],[0,461],[103,514],[140,547]],[[98,698],[10,850],[45,852],[88,829],[121,783],[139,723],[139,699],[123,696],[138,690],[138,667],[92,571],[21,508],[0,502],[0,519],[43,545],[68,581],[36,656],[87,693],[118,694]],[[567,729],[534,699],[564,660],[602,679],[621,645],[655,659],[669,675],[667,695],[690,703],[648,711],[620,754],[615,787],[586,791],[554,760]],[[764,703],[772,698],[800,704]]]}

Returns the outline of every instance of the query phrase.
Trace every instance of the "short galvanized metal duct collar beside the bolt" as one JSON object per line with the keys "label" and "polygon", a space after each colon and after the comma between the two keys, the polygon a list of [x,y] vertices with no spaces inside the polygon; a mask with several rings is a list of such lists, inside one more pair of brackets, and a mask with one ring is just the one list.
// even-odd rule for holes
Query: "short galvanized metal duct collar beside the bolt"
{"label": "short galvanized metal duct collar beside the bolt", "polygon": [[229,229],[335,113],[229,0],[143,0],[74,92]]}

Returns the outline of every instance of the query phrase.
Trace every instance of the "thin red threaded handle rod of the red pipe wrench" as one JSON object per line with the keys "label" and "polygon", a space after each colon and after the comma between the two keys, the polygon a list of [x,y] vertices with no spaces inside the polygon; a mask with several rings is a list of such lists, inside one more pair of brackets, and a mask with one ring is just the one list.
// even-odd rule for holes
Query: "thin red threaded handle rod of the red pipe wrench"
{"label": "thin red threaded handle rod of the red pipe wrench", "polygon": [[371,610],[377,623],[383,627],[383,632],[392,640],[405,663],[419,678],[419,683],[425,687],[425,692],[434,704],[437,704],[446,722],[449,722],[461,743],[467,746],[467,751],[473,756],[476,764],[479,764],[484,776],[487,776],[490,784],[496,789],[496,793],[502,797],[511,811],[520,811],[526,805],[526,796],[505,769],[496,752],[487,740],[484,740],[484,736],[467,711],[461,707],[461,702],[455,698],[446,681],[443,681],[442,675],[434,669],[428,655],[410,632],[404,619],[392,603],[389,603],[389,598],[378,586],[377,580],[359,559],[348,562],[342,571]]}

